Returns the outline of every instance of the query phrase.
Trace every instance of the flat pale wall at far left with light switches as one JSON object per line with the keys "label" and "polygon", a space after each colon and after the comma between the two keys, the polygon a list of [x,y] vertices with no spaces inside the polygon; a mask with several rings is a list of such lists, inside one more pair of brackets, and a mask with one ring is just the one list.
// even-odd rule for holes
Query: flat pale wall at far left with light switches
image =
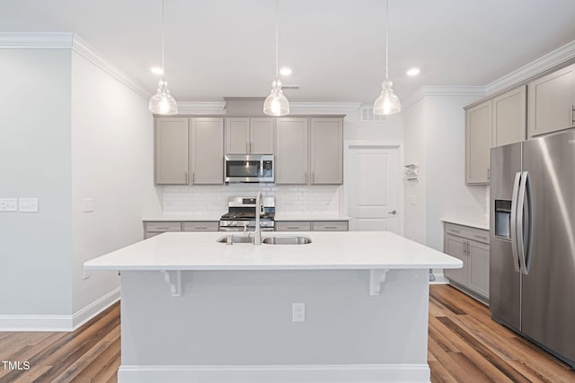
{"label": "flat pale wall at far left with light switches", "polygon": [[0,315],[70,313],[70,50],[0,49],[0,75],[0,198],[40,198],[0,213]]}

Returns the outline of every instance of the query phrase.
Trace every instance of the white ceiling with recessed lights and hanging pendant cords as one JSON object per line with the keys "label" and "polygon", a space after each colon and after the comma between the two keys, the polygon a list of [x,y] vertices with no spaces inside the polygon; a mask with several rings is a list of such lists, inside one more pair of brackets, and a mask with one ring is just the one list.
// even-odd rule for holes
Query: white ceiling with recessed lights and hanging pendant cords
{"label": "white ceiling with recessed lights and hanging pendant cords", "polygon": [[[161,0],[0,0],[0,32],[73,31],[150,91]],[[372,102],[384,77],[383,0],[279,0],[291,101]],[[390,78],[487,85],[575,39],[572,0],[390,0]],[[265,97],[275,71],[274,0],[165,0],[166,80],[178,101]],[[419,66],[415,78],[405,72]]]}

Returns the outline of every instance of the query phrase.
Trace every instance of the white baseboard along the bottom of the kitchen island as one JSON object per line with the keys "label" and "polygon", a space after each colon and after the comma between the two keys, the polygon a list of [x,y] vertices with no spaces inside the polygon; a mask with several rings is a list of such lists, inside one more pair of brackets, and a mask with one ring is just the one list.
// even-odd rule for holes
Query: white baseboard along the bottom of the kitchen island
{"label": "white baseboard along the bottom of the kitchen island", "polygon": [[371,383],[429,382],[427,364],[343,364],[269,366],[129,366],[119,383]]}

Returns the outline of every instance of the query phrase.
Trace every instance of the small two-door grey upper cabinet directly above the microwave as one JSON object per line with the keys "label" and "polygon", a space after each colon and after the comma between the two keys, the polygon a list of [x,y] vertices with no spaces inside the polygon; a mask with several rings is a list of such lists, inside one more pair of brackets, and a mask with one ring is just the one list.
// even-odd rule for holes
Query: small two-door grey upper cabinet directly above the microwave
{"label": "small two-door grey upper cabinet directly above the microwave", "polygon": [[226,154],[272,154],[273,118],[226,118]]}

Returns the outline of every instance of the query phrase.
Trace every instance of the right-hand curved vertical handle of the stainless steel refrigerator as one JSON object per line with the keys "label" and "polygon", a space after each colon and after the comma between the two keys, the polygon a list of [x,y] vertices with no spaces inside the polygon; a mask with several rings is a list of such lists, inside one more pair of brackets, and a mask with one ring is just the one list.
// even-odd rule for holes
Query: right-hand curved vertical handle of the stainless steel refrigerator
{"label": "right-hand curved vertical handle of the stainless steel refrigerator", "polygon": [[[518,205],[521,218],[517,218],[517,221],[520,222],[519,229],[517,230],[520,234],[519,254],[521,257],[519,257],[519,262],[523,274],[529,274],[529,266],[531,265],[531,249],[533,242],[533,208],[531,204],[531,181],[529,179],[529,172],[524,171],[521,174],[521,186],[519,187]],[[525,216],[524,213],[526,213]],[[526,226],[525,230],[523,227],[524,223]]]}

